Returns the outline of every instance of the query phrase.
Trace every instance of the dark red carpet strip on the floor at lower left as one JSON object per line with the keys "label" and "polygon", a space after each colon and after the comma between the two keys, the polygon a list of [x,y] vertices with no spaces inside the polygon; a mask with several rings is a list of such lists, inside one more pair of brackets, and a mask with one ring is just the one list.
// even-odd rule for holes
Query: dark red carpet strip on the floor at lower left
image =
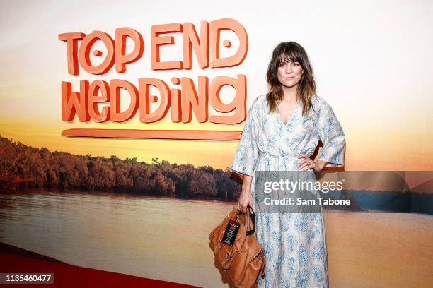
{"label": "dark red carpet strip on the floor at lower left", "polygon": [[91,268],[62,263],[32,251],[27,251],[15,246],[0,242],[0,272],[35,272],[54,273],[54,284],[0,284],[3,287],[170,287],[187,288],[195,287],[173,282],[151,280],[115,272],[107,272]]}

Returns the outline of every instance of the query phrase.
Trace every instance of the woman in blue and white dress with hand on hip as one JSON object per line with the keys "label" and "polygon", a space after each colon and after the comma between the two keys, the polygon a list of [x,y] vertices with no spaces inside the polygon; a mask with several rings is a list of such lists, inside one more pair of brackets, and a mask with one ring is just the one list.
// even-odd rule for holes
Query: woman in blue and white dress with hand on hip
{"label": "woman in blue and white dress with hand on hip", "polygon": [[[267,69],[269,92],[250,109],[233,162],[244,174],[238,209],[250,205],[256,214],[255,232],[266,256],[266,275],[259,287],[328,287],[323,211],[266,213],[260,211],[256,171],[314,171],[344,164],[345,134],[333,109],[316,95],[313,68],[301,45],[282,42]],[[318,160],[310,158],[318,140]],[[301,171],[301,172],[300,172]]]}

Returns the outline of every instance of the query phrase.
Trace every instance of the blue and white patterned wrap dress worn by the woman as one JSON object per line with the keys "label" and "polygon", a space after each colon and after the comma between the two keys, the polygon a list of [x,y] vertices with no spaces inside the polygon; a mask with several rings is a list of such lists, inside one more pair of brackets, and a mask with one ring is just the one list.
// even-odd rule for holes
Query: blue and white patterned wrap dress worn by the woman
{"label": "blue and white patterned wrap dress worn by the woman", "polygon": [[[301,102],[284,124],[278,112],[268,113],[266,95],[257,97],[248,110],[243,133],[230,169],[253,176],[251,192],[256,214],[255,232],[266,256],[265,278],[258,287],[327,288],[323,210],[320,213],[260,213],[255,191],[256,171],[299,171],[299,154],[311,156],[318,140],[318,159],[328,166],[344,164],[345,134],[333,109],[313,96],[310,117],[302,115]],[[309,170],[314,176],[312,169]]]}

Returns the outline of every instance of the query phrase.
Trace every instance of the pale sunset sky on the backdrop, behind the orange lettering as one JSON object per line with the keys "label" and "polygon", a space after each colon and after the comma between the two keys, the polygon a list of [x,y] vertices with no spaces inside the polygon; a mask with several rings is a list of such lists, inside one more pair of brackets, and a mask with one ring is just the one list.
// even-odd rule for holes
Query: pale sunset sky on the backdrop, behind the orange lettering
{"label": "pale sunset sky on the backdrop, behind the orange lettering", "polygon": [[[151,77],[170,86],[172,77],[189,77],[197,85],[198,76],[208,76],[210,82],[217,76],[245,74],[249,107],[255,97],[267,91],[265,72],[272,49],[291,40],[308,52],[318,95],[333,107],[345,131],[345,169],[432,170],[433,38],[429,28],[433,27],[433,4],[418,1],[405,6],[403,1],[398,5],[381,1],[371,11],[363,2],[328,5],[297,1],[291,3],[296,13],[262,6],[262,2],[248,4],[246,10],[243,4],[219,1],[211,11],[195,1],[182,13],[166,1],[128,5],[120,1],[6,3],[0,17],[0,135],[52,151],[137,157],[146,162],[158,157],[172,163],[225,169],[233,159],[237,141],[69,138],[61,133],[68,128],[241,131],[243,124],[199,124],[194,116],[190,124],[174,124],[170,113],[155,124],[141,123],[138,115],[122,124],[80,123],[78,119],[64,122],[61,82],[69,81],[78,90],[81,79],[118,78],[137,85],[138,78]],[[238,20],[246,29],[248,54],[241,65],[202,70],[193,54],[190,71],[151,70],[151,25],[190,22],[199,32],[200,21],[219,18]],[[67,46],[58,40],[60,33],[100,30],[114,38],[115,28],[120,27],[133,28],[144,38],[144,55],[127,66],[126,73],[117,74],[115,68],[102,76],[82,69],[79,76],[67,73]],[[162,61],[182,58],[182,35],[172,35],[179,44],[163,47]],[[221,47],[221,57],[230,56],[238,47],[233,33],[221,33],[221,42],[225,39],[233,46]],[[98,43],[96,47],[103,46]],[[98,62],[95,57],[93,60]],[[231,89],[221,90],[225,103],[231,102],[233,95]],[[127,105],[124,100],[122,105]],[[212,107],[209,112],[216,114]]]}

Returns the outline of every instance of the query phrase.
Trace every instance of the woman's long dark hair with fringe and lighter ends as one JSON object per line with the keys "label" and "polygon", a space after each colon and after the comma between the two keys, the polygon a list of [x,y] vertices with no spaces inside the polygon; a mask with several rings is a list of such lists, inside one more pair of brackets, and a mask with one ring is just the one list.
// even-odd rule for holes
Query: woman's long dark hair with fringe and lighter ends
{"label": "woman's long dark hair with fringe and lighter ends", "polygon": [[304,69],[301,80],[297,87],[297,94],[302,101],[302,114],[308,115],[311,104],[311,97],[316,95],[316,81],[313,76],[313,67],[304,47],[296,42],[281,42],[272,52],[272,59],[267,67],[266,80],[269,85],[269,92],[266,95],[267,102],[270,104],[270,112],[278,111],[278,104],[284,99],[282,84],[279,83],[277,71],[281,59],[284,61],[299,62]]}

